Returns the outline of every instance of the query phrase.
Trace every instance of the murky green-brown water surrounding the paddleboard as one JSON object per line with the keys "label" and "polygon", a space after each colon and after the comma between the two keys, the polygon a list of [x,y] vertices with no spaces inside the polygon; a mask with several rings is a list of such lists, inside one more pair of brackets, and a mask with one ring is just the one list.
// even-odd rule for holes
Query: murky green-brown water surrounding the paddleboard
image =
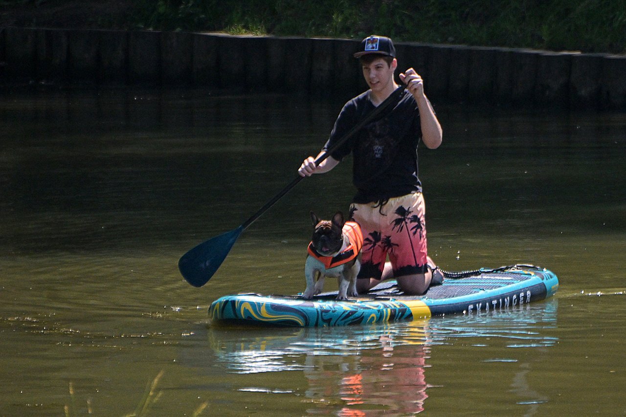
{"label": "murky green-brown water surrounding the paddleboard", "polygon": [[121,416],[153,381],[148,415],[625,414],[624,114],[434,103],[444,144],[419,154],[431,256],[547,267],[550,301],[372,327],[210,325],[225,294],[304,290],[309,210],[347,210],[350,162],[282,198],[206,286],[176,265],[289,183],[344,99],[2,91],[0,415]]}

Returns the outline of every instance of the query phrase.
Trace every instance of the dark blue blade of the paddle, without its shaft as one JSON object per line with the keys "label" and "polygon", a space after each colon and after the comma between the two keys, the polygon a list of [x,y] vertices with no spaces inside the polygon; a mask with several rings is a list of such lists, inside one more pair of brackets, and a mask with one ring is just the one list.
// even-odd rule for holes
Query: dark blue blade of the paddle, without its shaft
{"label": "dark blue blade of the paddle, without its shaft", "polygon": [[243,231],[244,228],[240,226],[191,249],[178,260],[180,274],[192,286],[202,287],[222,265],[223,260],[230,252],[230,248],[233,247]]}

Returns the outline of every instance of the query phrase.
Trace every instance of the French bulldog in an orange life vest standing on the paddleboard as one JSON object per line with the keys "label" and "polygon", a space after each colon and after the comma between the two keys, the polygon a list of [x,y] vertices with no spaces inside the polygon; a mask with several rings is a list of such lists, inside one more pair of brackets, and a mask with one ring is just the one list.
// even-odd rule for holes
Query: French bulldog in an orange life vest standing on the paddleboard
{"label": "French bulldog in an orange life vest standing on the paddleboard", "polygon": [[361,269],[363,246],[361,227],[356,222],[345,222],[341,212],[332,220],[320,220],[314,212],[310,216],[314,231],[304,264],[307,288],[302,297],[311,299],[321,293],[326,277],[337,278],[337,300],[356,297],[356,275]]}

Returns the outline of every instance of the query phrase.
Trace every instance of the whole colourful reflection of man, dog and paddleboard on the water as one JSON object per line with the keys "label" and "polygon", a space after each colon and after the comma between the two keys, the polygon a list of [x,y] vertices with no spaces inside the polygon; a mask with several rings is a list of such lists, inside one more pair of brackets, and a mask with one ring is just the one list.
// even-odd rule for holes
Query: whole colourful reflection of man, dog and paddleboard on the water
{"label": "whole colourful reflection of man, dog and paddleboard on the water", "polygon": [[[557,304],[552,299],[508,311],[376,326],[271,331],[253,327],[244,334],[210,327],[208,340],[215,355],[210,363],[235,374],[304,374],[307,388],[302,402],[310,404],[307,413],[316,413],[319,407],[336,409],[341,416],[376,410],[393,415],[419,413],[428,408],[428,389],[436,389],[428,384],[426,373],[432,366],[429,359],[434,346],[469,339],[475,348],[500,341],[505,341],[506,348],[550,348],[558,337],[550,336],[546,329],[557,324]],[[517,358],[511,352],[483,362],[516,363]],[[546,398],[528,386],[525,375],[529,366],[520,364],[511,392],[520,398],[518,404],[535,406]],[[293,392],[267,385],[245,386],[240,391]]]}

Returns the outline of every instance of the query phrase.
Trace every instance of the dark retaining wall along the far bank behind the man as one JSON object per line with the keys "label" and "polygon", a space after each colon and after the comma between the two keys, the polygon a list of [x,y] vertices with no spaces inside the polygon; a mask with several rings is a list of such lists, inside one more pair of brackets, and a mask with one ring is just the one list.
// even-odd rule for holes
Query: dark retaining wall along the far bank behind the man
{"label": "dark retaining wall along the far bank behind the man", "polygon": [[[0,28],[0,83],[190,85],[356,94],[358,41]],[[626,108],[626,56],[398,43],[433,101]]]}

